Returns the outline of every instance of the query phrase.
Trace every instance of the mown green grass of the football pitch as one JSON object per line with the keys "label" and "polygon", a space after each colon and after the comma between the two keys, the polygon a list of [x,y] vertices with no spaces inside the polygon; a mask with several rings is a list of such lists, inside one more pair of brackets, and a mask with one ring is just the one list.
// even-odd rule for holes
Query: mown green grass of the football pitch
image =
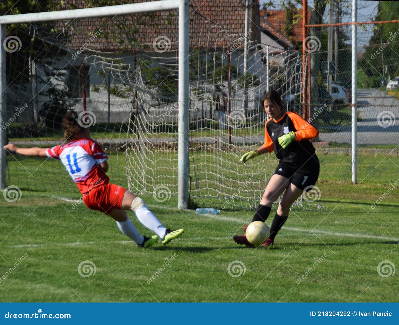
{"label": "mown green grass of the football pitch", "polygon": [[[117,161],[113,175],[123,178],[123,160],[111,155],[111,166]],[[47,175],[38,168],[43,161],[10,162],[7,185],[18,184],[22,197],[0,200],[0,301],[399,302],[399,273],[377,271],[383,261],[399,266],[399,190],[389,190],[398,179],[397,157],[359,157],[357,185],[348,180],[350,157],[320,161],[320,200],[294,208],[272,248],[248,249],[231,239],[251,211],[201,216],[177,210],[174,196],[160,204],[149,195],[143,198],[158,218],[186,232],[147,250],[135,248],[111,218],[76,204],[79,192],[59,162],[46,165]],[[51,185],[54,175],[65,178],[65,186]],[[83,261],[95,265],[89,277],[79,275]],[[232,277],[229,265],[241,275]]]}

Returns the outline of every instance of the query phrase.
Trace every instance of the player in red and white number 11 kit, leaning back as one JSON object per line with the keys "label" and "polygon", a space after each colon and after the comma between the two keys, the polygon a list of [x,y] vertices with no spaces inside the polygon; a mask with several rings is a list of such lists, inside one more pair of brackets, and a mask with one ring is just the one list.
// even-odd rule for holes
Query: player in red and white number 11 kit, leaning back
{"label": "player in red and white number 11 kit, leaning back", "polygon": [[[136,242],[138,247],[148,247],[161,238],[162,244],[179,237],[184,229],[171,231],[165,228],[144,204],[144,201],[125,188],[109,183],[107,155],[100,145],[89,138],[90,129],[82,127],[72,117],[65,115],[63,122],[66,144],[52,148],[18,148],[9,143],[9,151],[26,156],[60,159],[69,175],[75,181],[83,201],[92,210],[99,210],[115,219],[120,231]],[[125,210],[132,210],[137,219],[155,236],[142,236]]]}

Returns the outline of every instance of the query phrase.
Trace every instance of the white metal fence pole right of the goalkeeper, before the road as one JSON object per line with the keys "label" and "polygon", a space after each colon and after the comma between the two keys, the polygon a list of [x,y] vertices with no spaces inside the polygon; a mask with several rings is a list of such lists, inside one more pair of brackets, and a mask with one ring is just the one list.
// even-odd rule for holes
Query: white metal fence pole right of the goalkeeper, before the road
{"label": "white metal fence pole right of the goalkeeper, before the road", "polygon": [[358,157],[357,157],[357,107],[356,107],[356,89],[357,89],[357,67],[358,56],[356,53],[357,48],[357,11],[358,2],[352,1],[352,183],[358,183]]}

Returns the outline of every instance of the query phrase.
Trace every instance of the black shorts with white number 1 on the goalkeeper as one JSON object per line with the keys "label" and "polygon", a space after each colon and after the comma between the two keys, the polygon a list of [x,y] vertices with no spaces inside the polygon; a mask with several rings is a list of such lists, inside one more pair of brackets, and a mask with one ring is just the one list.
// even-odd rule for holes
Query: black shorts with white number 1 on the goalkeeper
{"label": "black shorts with white number 1 on the goalkeeper", "polygon": [[316,184],[319,177],[320,164],[312,164],[312,168],[307,166],[306,168],[292,168],[291,166],[279,163],[275,170],[275,174],[288,178],[292,184],[301,190],[308,192]]}

